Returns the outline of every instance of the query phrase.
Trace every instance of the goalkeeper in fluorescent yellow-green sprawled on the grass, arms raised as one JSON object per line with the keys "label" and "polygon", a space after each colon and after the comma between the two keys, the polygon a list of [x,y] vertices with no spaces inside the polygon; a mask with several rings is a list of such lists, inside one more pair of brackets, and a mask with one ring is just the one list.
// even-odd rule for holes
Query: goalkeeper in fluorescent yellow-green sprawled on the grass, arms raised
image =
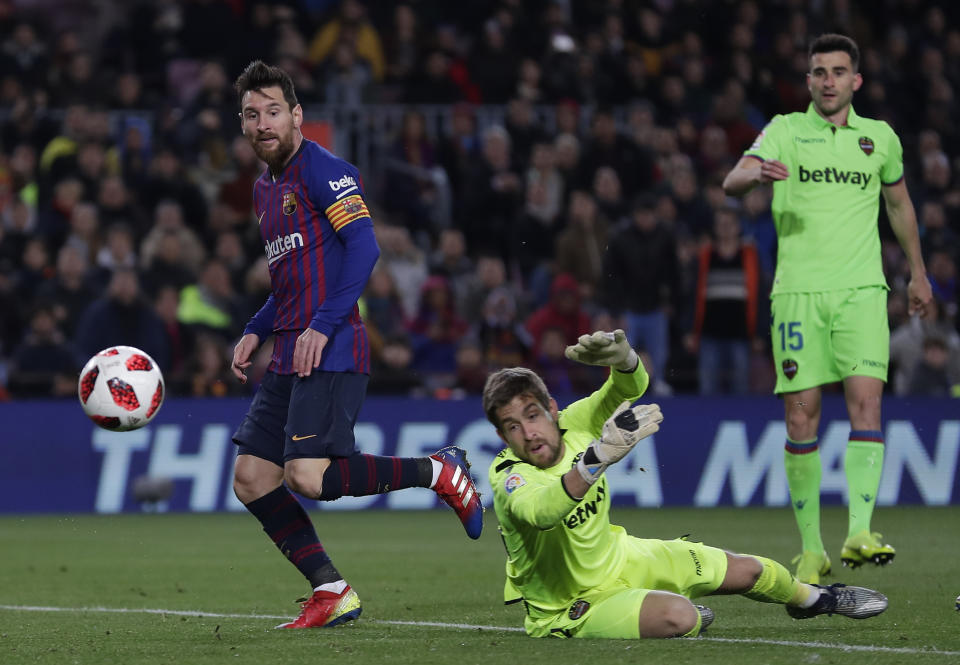
{"label": "goalkeeper in fluorescent yellow-green sprawled on the grass, arms raised", "polygon": [[701,543],[641,539],[610,524],[604,470],[660,428],[656,404],[630,408],[649,377],[622,330],[583,335],[569,359],[610,367],[598,391],[559,411],[543,380],[492,374],[483,409],[507,447],[490,466],[507,548],[507,603],[523,601],[532,637],[695,636],[713,612],[690,598],[742,594],[806,619],[855,619],[887,607],[861,587],[803,584],[782,565]]}

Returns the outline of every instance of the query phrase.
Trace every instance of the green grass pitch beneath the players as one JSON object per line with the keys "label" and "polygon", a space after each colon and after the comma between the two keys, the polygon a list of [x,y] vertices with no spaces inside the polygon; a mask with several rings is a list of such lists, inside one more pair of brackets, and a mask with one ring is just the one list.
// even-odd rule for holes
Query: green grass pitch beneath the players
{"label": "green grass pitch beneath the players", "polygon": [[[0,518],[0,605],[154,608],[147,614],[0,609],[0,663],[837,663],[960,662],[960,509],[880,508],[875,523],[898,548],[884,569],[839,568],[845,510],[824,511],[832,581],[882,590],[890,609],[866,621],[797,622],[739,597],[707,599],[717,613],[698,640],[533,640],[522,633],[390,622],[518,628],[502,604],[503,552],[487,513],[470,541],[449,511],[318,512],[313,517],[364,613],[331,630],[276,631],[307,591],[246,514]],[[783,563],[798,538],[789,509],[613,511],[634,535],[692,538]],[[729,640],[729,641],[727,641]],[[772,641],[803,643],[771,644]],[[820,643],[820,646],[807,646]],[[866,650],[844,650],[859,645]],[[891,651],[893,649],[895,651]],[[933,651],[950,652],[935,653]]]}

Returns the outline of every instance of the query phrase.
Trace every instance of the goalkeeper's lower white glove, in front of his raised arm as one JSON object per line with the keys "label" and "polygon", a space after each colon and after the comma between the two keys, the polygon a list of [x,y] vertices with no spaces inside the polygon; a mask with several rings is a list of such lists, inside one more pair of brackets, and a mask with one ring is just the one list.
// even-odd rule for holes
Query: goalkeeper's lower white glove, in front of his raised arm
{"label": "goalkeeper's lower white glove, in front of his raised arm", "polygon": [[630,408],[624,402],[603,424],[599,439],[587,446],[577,460],[577,471],[588,485],[597,482],[608,466],[619,462],[637,442],[660,429],[663,413],[657,404],[638,404]]}

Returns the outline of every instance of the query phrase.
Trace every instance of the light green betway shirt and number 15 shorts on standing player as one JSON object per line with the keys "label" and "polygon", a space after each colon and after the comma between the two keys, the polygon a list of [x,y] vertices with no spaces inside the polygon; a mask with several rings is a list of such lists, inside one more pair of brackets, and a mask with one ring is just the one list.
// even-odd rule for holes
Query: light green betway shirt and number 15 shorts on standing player
{"label": "light green betway shirt and number 15 shorts on standing player", "polygon": [[903,178],[890,126],[850,108],[838,127],[811,103],[775,116],[744,153],[783,162],[773,183],[777,268],[771,342],[777,393],[850,375],[886,380],[889,328],[877,213],[883,185]]}

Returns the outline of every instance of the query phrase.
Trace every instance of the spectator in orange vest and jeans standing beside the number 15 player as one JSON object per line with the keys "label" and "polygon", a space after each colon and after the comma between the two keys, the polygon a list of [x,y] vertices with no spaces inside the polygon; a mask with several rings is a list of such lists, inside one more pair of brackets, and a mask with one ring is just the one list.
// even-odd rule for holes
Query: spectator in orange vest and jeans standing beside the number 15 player
{"label": "spectator in orange vest and jeans standing beside the number 15 player", "polygon": [[699,353],[701,395],[744,395],[750,388],[751,345],[757,339],[760,267],[757,251],[740,238],[730,208],[714,214],[713,240],[699,252],[693,330],[685,340]]}

